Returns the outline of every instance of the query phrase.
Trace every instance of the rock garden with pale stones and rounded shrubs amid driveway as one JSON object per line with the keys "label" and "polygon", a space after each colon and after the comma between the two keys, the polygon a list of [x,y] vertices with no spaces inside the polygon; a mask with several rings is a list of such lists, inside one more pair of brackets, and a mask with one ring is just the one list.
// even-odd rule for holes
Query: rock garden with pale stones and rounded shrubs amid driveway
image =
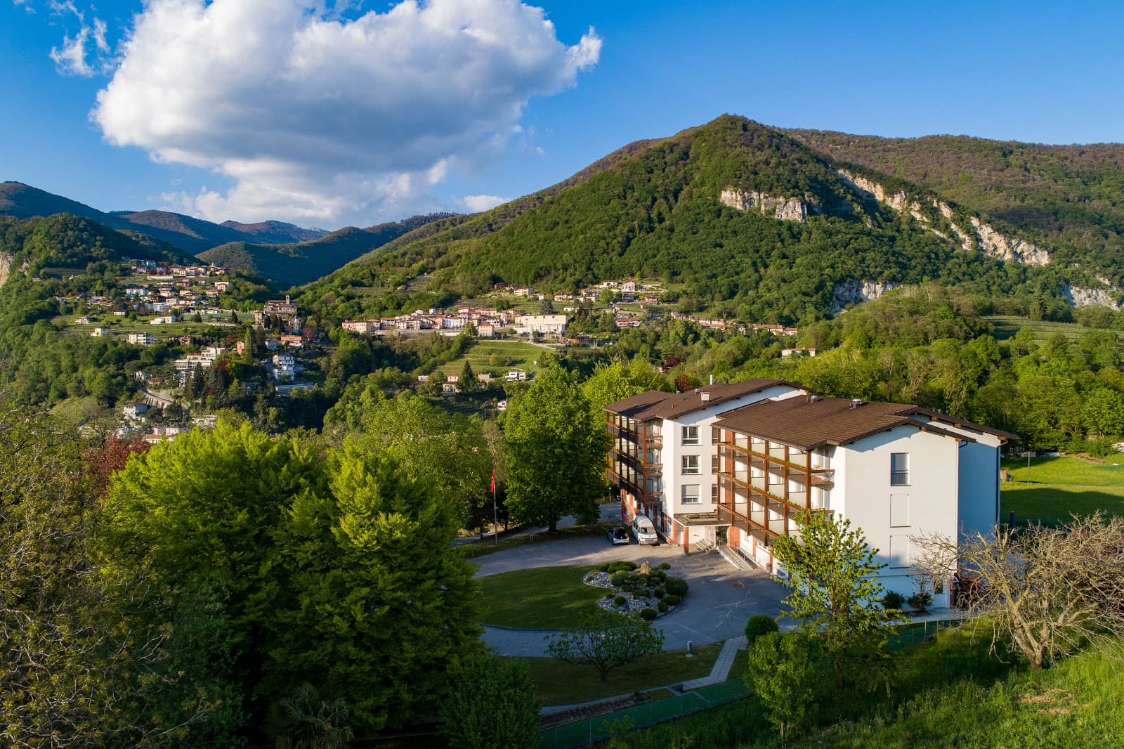
{"label": "rock garden with pale stones and rounded shrubs amid driveway", "polygon": [[655,567],[646,561],[638,567],[631,561],[602,562],[582,581],[609,590],[598,602],[601,608],[652,621],[674,611],[687,595],[687,580],[668,575],[670,568],[667,562]]}

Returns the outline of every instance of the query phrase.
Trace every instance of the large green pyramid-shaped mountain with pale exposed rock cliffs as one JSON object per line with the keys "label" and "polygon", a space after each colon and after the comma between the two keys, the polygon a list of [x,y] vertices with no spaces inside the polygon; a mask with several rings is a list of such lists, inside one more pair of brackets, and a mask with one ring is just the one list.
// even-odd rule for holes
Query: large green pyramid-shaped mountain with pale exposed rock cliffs
{"label": "large green pyramid-shaped mountain with pale exposed rock cliffs", "polygon": [[726,115],[399,237],[310,285],[301,303],[326,317],[378,315],[499,281],[561,292],[629,277],[663,279],[685,309],[755,322],[810,321],[924,281],[1021,309],[1039,297],[1064,307],[1067,290],[1118,300],[1121,256],[1023,236],[988,207]]}

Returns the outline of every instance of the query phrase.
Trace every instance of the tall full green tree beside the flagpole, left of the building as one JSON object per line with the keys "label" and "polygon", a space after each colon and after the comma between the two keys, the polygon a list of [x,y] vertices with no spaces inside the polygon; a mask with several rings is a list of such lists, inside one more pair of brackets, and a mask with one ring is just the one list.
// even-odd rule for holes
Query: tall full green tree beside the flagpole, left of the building
{"label": "tall full green tree beside the flagpole, left of the building", "polygon": [[541,372],[511,399],[505,432],[513,516],[551,531],[565,515],[582,522],[597,518],[608,435],[565,370]]}

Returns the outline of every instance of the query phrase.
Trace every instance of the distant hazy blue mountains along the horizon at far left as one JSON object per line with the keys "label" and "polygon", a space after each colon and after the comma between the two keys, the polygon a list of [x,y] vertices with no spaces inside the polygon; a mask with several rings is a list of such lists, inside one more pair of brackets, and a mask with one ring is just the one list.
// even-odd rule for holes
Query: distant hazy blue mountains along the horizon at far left
{"label": "distant hazy blue mountains along the horizon at far left", "polygon": [[22,182],[0,182],[0,215],[30,218],[54,214],[92,218],[110,228],[145,234],[191,254],[229,242],[281,244],[315,240],[325,234],[319,229],[306,229],[281,222],[215,224],[166,210],[103,213]]}

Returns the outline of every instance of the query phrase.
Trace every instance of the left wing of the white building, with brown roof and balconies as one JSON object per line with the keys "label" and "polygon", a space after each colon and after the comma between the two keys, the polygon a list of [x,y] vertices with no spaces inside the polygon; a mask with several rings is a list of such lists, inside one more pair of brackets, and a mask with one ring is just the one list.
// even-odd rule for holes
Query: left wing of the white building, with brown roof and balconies
{"label": "left wing of the white building, with brown roof and balconies", "polygon": [[649,390],[609,405],[608,475],[620,494],[622,520],[647,515],[668,543],[713,548],[720,523],[711,425],[732,408],[803,395],[785,380],[753,379],[687,392]]}

